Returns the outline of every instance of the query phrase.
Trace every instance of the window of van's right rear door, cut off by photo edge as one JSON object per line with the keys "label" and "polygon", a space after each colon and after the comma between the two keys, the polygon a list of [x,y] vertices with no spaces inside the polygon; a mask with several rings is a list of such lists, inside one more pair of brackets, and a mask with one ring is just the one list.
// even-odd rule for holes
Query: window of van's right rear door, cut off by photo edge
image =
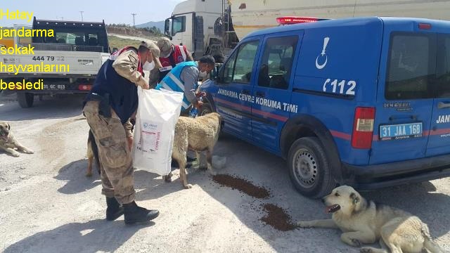
{"label": "window of van's right rear door, cut off by photo edge", "polygon": [[437,56],[437,98],[450,98],[450,36],[439,34]]}

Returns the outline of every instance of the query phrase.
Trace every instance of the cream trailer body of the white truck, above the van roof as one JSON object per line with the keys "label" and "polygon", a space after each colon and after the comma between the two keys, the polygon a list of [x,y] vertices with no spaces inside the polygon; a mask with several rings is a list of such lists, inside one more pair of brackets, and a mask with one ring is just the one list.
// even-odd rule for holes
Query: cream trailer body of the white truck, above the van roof
{"label": "cream trailer body of the white truck, above the van roof", "polygon": [[450,20],[450,0],[241,0],[233,1],[231,16],[239,39],[262,28],[278,26],[276,18],[350,18],[364,16]]}

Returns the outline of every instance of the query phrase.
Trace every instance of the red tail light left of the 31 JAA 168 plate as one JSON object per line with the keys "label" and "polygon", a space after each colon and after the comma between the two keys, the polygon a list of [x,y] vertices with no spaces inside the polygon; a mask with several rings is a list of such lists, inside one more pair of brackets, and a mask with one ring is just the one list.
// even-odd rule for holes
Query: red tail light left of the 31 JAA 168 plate
{"label": "red tail light left of the 31 JAA 168 plate", "polygon": [[374,122],[375,108],[356,108],[352,133],[353,148],[369,149],[372,147]]}

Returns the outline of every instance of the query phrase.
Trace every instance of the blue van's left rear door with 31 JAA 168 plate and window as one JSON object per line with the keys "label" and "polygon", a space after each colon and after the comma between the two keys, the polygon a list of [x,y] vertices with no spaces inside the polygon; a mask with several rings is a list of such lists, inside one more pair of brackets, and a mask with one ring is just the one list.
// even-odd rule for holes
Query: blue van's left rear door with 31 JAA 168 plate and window
{"label": "blue van's left rear door with 31 JAA 168 plate and window", "polygon": [[385,34],[370,164],[425,157],[434,105],[436,34]]}

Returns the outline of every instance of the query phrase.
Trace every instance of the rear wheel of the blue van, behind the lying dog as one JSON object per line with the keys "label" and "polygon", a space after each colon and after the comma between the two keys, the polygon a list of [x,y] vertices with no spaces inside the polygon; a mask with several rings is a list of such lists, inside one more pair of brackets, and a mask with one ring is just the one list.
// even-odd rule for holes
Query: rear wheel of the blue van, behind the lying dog
{"label": "rear wheel of the blue van, behind the lying dog", "polygon": [[317,137],[304,137],[293,143],[288,167],[290,180],[304,196],[323,197],[336,186],[330,174],[329,159]]}

